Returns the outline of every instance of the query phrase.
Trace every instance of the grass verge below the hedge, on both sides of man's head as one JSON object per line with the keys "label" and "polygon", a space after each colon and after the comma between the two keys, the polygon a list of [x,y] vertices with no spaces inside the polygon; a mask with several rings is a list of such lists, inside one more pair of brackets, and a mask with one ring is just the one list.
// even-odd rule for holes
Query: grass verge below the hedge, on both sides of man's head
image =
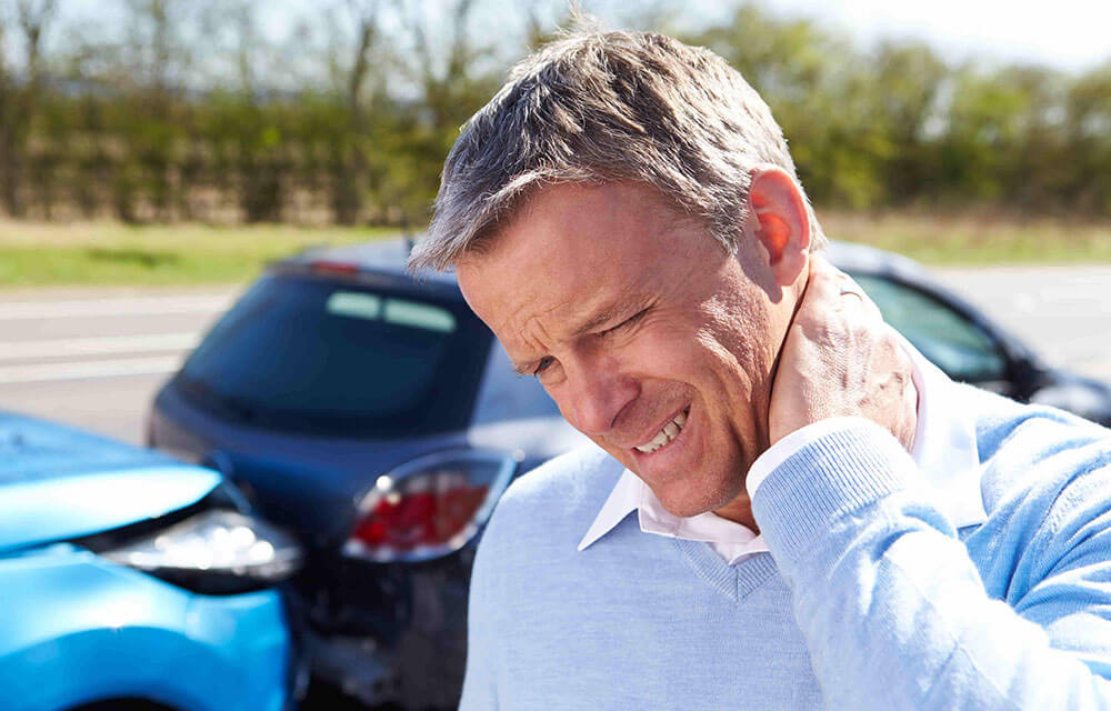
{"label": "grass verge below the hedge, on both sides of man's head", "polygon": [[[1111,222],[822,210],[819,216],[832,239],[874,244],[938,266],[1111,263]],[[289,226],[0,222],[0,288],[237,283],[253,278],[266,262],[311,244],[350,244],[393,233]]]}

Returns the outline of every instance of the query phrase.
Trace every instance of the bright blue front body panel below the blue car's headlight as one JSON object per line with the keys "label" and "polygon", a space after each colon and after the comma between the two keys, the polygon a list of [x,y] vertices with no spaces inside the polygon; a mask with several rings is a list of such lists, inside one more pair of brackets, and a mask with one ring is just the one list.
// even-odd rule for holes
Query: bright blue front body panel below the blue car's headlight
{"label": "bright blue front body panel below the blue car's headlight", "polygon": [[280,711],[290,640],[274,590],[198,595],[58,543],[0,557],[0,707],[142,698]]}

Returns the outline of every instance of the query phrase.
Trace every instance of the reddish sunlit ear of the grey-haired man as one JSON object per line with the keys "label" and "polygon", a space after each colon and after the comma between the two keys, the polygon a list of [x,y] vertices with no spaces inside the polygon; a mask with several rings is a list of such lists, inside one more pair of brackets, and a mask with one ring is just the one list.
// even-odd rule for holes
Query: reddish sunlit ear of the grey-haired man
{"label": "reddish sunlit ear of the grey-haired man", "polygon": [[810,216],[798,183],[780,168],[752,171],[749,201],[755,217],[755,238],[781,287],[794,283],[807,269]]}

